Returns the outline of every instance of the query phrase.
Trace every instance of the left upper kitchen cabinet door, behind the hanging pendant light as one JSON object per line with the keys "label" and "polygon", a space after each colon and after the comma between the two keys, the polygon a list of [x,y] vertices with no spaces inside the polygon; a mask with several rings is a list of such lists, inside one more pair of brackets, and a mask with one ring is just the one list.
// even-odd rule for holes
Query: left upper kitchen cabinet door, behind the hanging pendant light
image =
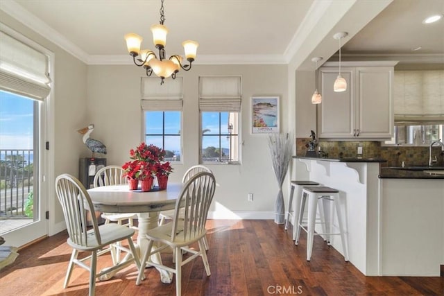
{"label": "left upper kitchen cabinet door, behind the hanging pendant light", "polygon": [[343,68],[341,75],[347,81],[345,92],[334,92],[334,80],[339,74],[337,68],[321,68],[322,103],[318,105],[318,137],[350,138],[355,129],[355,102],[353,101],[354,69]]}

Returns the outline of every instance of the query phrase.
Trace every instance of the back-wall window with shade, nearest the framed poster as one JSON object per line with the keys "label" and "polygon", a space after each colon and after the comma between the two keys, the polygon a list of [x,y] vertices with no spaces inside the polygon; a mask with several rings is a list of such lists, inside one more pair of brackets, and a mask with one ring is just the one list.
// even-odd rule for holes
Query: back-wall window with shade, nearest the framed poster
{"label": "back-wall window with shade, nearest the framed poster", "polygon": [[241,77],[200,77],[200,162],[239,162]]}

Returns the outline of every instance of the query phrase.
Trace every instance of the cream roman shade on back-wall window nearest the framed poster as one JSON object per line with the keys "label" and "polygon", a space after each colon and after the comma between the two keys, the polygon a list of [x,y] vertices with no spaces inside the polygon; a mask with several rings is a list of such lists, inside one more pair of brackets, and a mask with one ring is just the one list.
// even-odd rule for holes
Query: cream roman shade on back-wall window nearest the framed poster
{"label": "cream roman shade on back-wall window nearest the framed poster", "polygon": [[199,109],[240,112],[241,76],[199,77]]}

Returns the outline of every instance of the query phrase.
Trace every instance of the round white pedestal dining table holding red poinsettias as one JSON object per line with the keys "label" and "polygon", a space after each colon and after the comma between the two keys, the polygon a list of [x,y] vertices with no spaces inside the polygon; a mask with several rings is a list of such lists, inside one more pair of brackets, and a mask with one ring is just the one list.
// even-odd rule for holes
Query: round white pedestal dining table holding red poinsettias
{"label": "round white pedestal dining table holding red poinsettias", "polygon": [[[139,254],[143,254],[148,246],[146,232],[148,229],[157,227],[160,211],[174,209],[182,186],[182,183],[170,182],[166,190],[158,190],[155,187],[152,191],[142,192],[140,189],[130,190],[128,184],[125,184],[100,186],[88,189],[87,192],[96,211],[137,214],[139,230],[136,247]],[[129,256],[127,254],[123,261],[127,260]],[[154,254],[151,259],[154,262],[162,263],[159,253]],[[162,283],[171,284],[171,281],[173,281],[172,273],[166,270],[159,270],[159,272]],[[100,279],[110,279],[116,273],[117,270],[109,272]]]}

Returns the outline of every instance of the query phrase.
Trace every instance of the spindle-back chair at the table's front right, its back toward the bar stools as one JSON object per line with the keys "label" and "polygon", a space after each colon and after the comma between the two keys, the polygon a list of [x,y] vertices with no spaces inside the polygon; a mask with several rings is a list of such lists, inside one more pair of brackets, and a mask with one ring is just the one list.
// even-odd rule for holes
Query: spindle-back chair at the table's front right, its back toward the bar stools
{"label": "spindle-back chair at the table's front right, its back toward the bar stools", "polygon": [[[208,172],[197,173],[185,182],[176,200],[173,221],[149,229],[146,232],[148,247],[142,257],[139,275],[137,275],[137,285],[144,278],[145,266],[153,265],[156,268],[176,274],[176,295],[181,295],[182,265],[189,263],[198,256],[202,258],[207,276],[211,275],[203,240],[205,234],[207,234],[205,223],[207,222],[207,214],[215,189],[216,180],[214,180],[214,175]],[[183,217],[180,217],[180,209],[185,209]],[[196,242],[198,243],[198,250],[188,247]],[[156,248],[153,248],[154,243],[157,245]],[[151,255],[161,252],[167,247],[173,249],[173,253],[176,254],[173,267],[151,261]],[[182,261],[182,251],[191,253],[191,256]]]}

